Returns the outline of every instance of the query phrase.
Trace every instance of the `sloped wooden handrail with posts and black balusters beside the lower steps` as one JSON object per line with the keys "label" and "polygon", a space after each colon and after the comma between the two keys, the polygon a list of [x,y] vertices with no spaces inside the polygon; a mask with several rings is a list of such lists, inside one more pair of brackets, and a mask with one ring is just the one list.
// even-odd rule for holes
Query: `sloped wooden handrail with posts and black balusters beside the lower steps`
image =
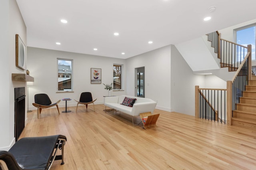
{"label": "sloped wooden handrail with posts and black balusters beside the lower steps", "polygon": [[227,81],[227,120],[228,125],[232,125],[233,111],[236,110],[236,104],[240,103],[240,97],[243,96],[245,86],[252,79],[252,45],[247,46],[248,53],[237,69],[231,81]]}

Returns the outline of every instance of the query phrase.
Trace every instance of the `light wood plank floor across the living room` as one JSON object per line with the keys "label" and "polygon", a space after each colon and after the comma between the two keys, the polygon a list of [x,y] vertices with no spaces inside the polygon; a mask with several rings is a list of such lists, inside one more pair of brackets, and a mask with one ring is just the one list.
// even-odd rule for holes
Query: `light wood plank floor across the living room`
{"label": "light wood plank floor across the living room", "polygon": [[56,160],[52,170],[256,169],[256,130],[157,109],[157,127],[145,130],[105,113],[104,105],[95,109],[43,109],[40,119],[35,110],[20,137],[67,137],[65,164]]}

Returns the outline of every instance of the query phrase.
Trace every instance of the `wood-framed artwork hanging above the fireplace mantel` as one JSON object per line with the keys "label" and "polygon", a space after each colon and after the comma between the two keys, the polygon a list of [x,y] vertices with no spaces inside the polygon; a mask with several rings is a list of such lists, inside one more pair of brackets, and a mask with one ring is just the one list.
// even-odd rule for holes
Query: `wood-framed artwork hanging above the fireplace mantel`
{"label": "wood-framed artwork hanging above the fireplace mantel", "polygon": [[26,69],[26,46],[18,34],[16,34],[16,66]]}

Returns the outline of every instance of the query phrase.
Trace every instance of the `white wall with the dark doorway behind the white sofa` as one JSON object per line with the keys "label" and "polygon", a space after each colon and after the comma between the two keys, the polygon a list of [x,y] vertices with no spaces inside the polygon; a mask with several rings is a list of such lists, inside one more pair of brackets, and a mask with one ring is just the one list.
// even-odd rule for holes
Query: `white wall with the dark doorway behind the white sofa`
{"label": "white wall with the dark doorway behind the white sofa", "polygon": [[145,98],[157,102],[156,109],[171,111],[170,45],[126,59],[127,95],[135,94],[135,68],[145,67]]}

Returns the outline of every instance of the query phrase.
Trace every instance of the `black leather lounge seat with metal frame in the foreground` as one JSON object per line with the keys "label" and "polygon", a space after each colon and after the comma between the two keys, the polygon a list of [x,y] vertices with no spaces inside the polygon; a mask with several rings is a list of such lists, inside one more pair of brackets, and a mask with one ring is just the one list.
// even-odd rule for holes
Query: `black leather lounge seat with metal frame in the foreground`
{"label": "black leather lounge seat with metal frame in the foreground", "polygon": [[[54,160],[62,160],[63,165],[66,140],[60,134],[21,138],[9,151],[0,150],[0,169],[49,170]],[[58,148],[61,155],[56,155]]]}

